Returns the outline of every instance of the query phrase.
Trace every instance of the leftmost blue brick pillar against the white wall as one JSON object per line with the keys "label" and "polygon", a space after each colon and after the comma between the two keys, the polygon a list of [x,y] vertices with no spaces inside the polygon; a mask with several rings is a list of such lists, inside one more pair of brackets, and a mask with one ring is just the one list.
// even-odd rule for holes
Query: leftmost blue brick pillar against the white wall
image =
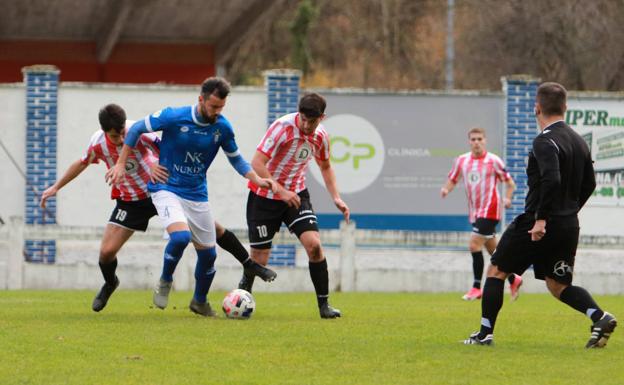
{"label": "leftmost blue brick pillar against the white wall", "polygon": [[[41,193],[56,180],[59,69],[51,65],[22,68],[26,85],[26,224],[55,224],[56,199],[39,207]],[[26,260],[54,263],[56,241],[25,241]]]}

